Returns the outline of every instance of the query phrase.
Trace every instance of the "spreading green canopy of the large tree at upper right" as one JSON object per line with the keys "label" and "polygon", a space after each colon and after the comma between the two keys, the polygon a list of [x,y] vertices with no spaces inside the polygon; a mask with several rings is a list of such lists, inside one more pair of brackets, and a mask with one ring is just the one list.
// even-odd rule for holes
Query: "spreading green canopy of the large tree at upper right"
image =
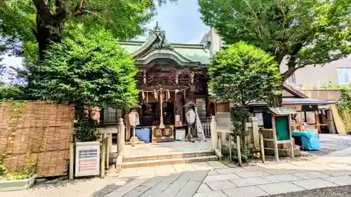
{"label": "spreading green canopy of the large tree at upper right", "polygon": [[325,64],[351,53],[350,0],[198,0],[202,20],[225,43],[246,41],[287,57],[282,82],[308,64]]}

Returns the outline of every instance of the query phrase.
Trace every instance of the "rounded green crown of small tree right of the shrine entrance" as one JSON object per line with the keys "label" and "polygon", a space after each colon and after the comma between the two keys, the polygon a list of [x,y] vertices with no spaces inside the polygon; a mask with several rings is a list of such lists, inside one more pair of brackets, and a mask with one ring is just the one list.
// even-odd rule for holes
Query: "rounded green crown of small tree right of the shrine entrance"
{"label": "rounded green crown of small tree right of the shrine entrance", "polygon": [[208,74],[213,93],[223,102],[245,106],[279,94],[281,76],[273,57],[243,41],[218,51]]}

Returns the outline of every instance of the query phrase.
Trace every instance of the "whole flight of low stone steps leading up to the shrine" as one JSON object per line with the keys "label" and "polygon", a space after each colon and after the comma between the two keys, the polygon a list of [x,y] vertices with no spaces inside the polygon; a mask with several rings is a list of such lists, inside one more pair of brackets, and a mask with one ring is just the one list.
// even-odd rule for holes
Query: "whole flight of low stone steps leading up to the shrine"
{"label": "whole flight of low stone steps leading up to the shrine", "polygon": [[125,156],[121,167],[138,168],[154,165],[171,165],[178,163],[194,163],[216,160],[218,160],[218,157],[214,155],[213,151],[197,151],[149,156]]}

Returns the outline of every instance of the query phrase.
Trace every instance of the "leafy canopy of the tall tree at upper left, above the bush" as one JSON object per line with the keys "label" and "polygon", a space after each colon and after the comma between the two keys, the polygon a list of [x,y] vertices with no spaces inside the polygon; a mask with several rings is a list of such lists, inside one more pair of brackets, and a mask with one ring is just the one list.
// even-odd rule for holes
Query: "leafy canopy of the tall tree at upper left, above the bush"
{"label": "leafy canopy of the tall tree at upper left, above the bush", "polygon": [[74,27],[77,23],[84,24],[86,32],[99,27],[109,29],[119,40],[131,39],[145,32],[145,25],[157,14],[157,6],[165,3],[166,0],[2,0],[0,54],[13,53],[26,57],[26,63],[33,62],[38,58],[38,43],[60,41],[67,25]]}

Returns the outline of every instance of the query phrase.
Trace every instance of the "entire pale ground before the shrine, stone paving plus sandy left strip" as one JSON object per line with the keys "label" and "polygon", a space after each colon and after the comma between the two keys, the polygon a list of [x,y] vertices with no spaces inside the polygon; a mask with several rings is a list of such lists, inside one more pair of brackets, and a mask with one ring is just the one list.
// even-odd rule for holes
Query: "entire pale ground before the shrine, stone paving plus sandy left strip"
{"label": "entire pale ground before the shrine, stone paving plus sandy left strip", "polygon": [[[129,175],[124,170],[124,175],[121,173],[119,177],[110,175],[105,179],[65,180],[53,184],[40,184],[28,191],[3,192],[0,193],[0,196],[255,197],[286,195],[288,197],[289,195],[305,195],[307,197],[307,194],[315,193],[314,191],[331,193],[315,195],[320,197],[334,196],[332,191],[338,193],[339,189],[340,197],[342,197],[344,193],[350,191],[350,186],[347,186],[347,190],[344,185],[351,185],[350,137],[345,135],[322,137],[321,135],[320,140],[322,150],[331,151],[326,151],[325,154],[313,158],[312,161],[268,163],[266,165],[256,163],[256,165],[244,168],[232,165],[233,168],[229,168],[219,161],[164,165],[154,168],[131,168]],[[133,177],[133,180],[129,176]],[[333,187],[325,189],[329,186]],[[351,196],[350,192],[346,196]]]}

